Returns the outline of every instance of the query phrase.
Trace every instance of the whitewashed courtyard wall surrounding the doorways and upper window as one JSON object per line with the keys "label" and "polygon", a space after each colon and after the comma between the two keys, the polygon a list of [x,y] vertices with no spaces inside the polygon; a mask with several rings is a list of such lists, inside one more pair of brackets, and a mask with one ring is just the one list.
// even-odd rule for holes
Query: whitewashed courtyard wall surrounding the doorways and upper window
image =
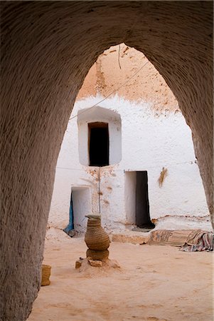
{"label": "whitewashed courtyard wall surrounding the doorways and upper window", "polygon": [[[71,117],[95,105],[102,98],[96,96],[77,101]],[[118,159],[122,160],[116,165],[100,168],[102,224],[109,229],[123,229],[132,223],[135,178],[127,172],[147,170],[150,217],[157,220],[156,228],[210,230],[208,207],[193,151],[191,130],[182,114],[156,113],[149,103],[131,103],[118,96],[108,98],[99,106],[119,113],[122,121],[122,152],[118,149],[118,154],[122,153]],[[84,122],[86,116],[87,112],[84,113]],[[80,122],[81,119],[78,120]],[[87,138],[79,135],[79,140],[78,133],[80,130],[75,117],[68,123],[55,173],[49,224],[58,228],[65,228],[68,224],[70,193],[74,187],[75,190],[78,190],[78,186],[88,188],[87,211],[99,210],[99,168],[80,164],[80,158],[87,155]],[[158,178],[163,167],[167,168],[168,175],[160,188]],[[79,214],[81,220],[83,213],[84,210]],[[76,218],[76,224],[79,223],[80,218]],[[84,220],[82,224],[85,224]],[[77,225],[76,228],[81,230]]]}

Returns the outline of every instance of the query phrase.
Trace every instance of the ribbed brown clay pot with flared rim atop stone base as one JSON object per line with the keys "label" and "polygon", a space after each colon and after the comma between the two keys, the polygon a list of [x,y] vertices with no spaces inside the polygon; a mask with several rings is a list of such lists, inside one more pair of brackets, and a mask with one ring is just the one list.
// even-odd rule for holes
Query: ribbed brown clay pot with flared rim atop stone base
{"label": "ribbed brown clay pot with flared rim atop stone base", "polygon": [[101,226],[100,215],[87,215],[87,231],[85,243],[90,250],[107,250],[109,248],[109,235]]}

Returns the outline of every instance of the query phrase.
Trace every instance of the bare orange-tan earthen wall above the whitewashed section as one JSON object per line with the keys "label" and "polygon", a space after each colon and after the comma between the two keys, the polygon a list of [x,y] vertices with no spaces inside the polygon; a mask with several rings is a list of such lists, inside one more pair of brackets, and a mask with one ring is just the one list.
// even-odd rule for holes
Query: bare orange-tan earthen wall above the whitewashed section
{"label": "bare orange-tan earthen wall above the whitewashed section", "polygon": [[77,101],[96,93],[106,97],[113,91],[128,101],[152,102],[151,108],[157,113],[179,111],[178,101],[152,63],[143,53],[125,44],[112,46],[97,58],[85,77]]}

